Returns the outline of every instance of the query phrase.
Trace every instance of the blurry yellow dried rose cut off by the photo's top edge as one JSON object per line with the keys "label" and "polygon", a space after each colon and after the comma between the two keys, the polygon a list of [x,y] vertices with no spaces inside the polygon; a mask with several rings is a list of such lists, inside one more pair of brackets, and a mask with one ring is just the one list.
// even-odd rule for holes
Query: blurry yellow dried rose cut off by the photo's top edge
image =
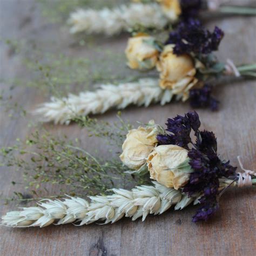
{"label": "blurry yellow dried rose cut off by the photo's top edge", "polygon": [[181,15],[179,0],[157,0],[160,3],[164,15],[171,21],[177,21]]}

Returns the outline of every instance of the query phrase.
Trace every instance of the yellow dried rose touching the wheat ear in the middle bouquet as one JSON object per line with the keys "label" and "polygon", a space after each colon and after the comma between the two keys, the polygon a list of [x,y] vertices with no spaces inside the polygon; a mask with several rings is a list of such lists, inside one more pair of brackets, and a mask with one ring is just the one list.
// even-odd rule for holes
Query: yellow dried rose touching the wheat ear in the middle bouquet
{"label": "yellow dried rose touching the wheat ear in the middle bouquet", "polygon": [[174,45],[166,45],[157,63],[160,72],[160,87],[171,89],[174,95],[188,99],[189,90],[197,84],[198,79],[193,59],[189,55],[177,56],[173,53]]}

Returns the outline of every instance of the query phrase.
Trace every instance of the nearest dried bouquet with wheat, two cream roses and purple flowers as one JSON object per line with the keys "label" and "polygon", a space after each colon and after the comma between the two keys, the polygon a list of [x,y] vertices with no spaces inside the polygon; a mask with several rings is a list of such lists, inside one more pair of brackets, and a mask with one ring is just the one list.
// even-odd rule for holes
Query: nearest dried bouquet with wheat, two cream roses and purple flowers
{"label": "nearest dried bouquet with wheat, two cream roses and purple flowers", "polygon": [[[11,227],[50,224],[114,223],[122,217],[145,220],[148,214],[161,214],[172,205],[181,210],[199,204],[194,222],[208,220],[219,208],[221,195],[230,186],[253,185],[254,171],[236,173],[236,167],[221,160],[213,132],[200,131],[196,112],[167,120],[167,129],[151,121],[130,130],[123,143],[120,159],[133,169],[133,175],[150,174],[153,185],[137,186],[131,191],[113,188],[109,196],[41,200],[37,207],[22,207],[8,212],[2,224]],[[194,132],[196,140],[190,134]],[[240,160],[239,160],[240,161]]]}

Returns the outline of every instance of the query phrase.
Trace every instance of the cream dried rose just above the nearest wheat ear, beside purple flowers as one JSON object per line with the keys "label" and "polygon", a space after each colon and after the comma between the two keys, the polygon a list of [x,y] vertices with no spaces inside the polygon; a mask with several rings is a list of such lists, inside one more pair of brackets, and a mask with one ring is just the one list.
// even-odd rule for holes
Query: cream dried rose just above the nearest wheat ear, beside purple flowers
{"label": "cream dried rose just above the nearest wheat ear, beside purple flowers", "polygon": [[[178,168],[188,160],[187,150],[176,145],[160,145],[147,158],[150,178],[178,190],[190,177],[190,170]],[[186,162],[187,163],[187,162]]]}

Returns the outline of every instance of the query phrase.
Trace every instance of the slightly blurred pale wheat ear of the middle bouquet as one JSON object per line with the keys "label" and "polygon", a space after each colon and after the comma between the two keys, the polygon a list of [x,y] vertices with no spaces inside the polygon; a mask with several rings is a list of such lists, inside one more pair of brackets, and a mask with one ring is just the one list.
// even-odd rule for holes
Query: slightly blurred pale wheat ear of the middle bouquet
{"label": "slightly blurred pale wheat ear of the middle bouquet", "polygon": [[130,104],[147,107],[157,102],[164,105],[172,96],[171,90],[159,87],[157,79],[144,78],[133,83],[103,84],[96,91],[80,92],[78,96],[52,97],[51,102],[42,104],[34,113],[41,116],[43,122],[69,124],[76,116],[104,113],[113,107],[125,109]]}

